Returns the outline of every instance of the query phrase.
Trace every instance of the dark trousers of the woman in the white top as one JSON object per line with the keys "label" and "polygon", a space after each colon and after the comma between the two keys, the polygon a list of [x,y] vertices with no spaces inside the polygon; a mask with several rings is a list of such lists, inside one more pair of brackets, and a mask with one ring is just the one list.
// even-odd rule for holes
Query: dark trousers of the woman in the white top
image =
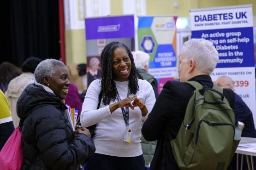
{"label": "dark trousers of the woman in the white top", "polygon": [[144,170],[143,155],[136,157],[116,157],[95,153],[88,162],[86,170]]}

